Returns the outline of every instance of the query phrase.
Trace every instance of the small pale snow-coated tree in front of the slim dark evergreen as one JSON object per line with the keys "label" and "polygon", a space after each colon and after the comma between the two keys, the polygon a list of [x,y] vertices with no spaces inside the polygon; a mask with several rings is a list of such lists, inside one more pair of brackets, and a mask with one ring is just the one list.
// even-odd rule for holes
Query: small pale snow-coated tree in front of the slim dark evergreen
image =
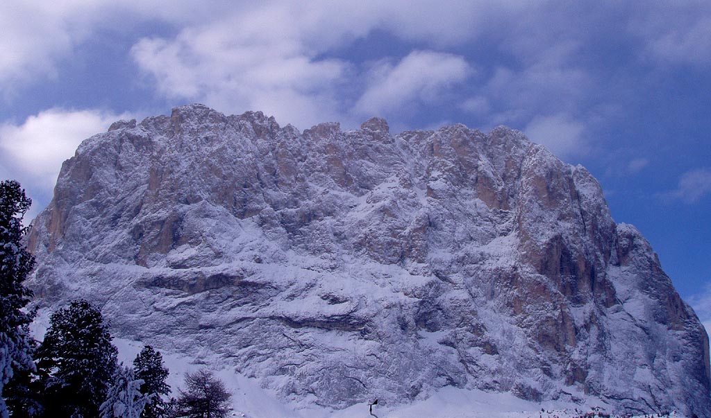
{"label": "small pale snow-coated tree in front of the slim dark evergreen", "polygon": [[134,370],[123,363],[117,367],[106,401],[101,405],[101,418],[140,418],[149,395],[141,393],[144,383],[134,378]]}

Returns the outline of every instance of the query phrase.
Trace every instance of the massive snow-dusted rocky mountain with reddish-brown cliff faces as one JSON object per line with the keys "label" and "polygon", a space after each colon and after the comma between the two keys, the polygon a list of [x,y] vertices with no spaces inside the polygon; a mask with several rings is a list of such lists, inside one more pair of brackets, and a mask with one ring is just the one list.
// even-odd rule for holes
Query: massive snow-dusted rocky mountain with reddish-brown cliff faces
{"label": "massive snow-dusted rocky mountain with reddish-brown cliff faces", "polygon": [[508,128],[120,121],[65,162],[28,243],[41,303],[90,297],[120,336],[287,399],[455,385],[711,416],[707,336],[648,242]]}

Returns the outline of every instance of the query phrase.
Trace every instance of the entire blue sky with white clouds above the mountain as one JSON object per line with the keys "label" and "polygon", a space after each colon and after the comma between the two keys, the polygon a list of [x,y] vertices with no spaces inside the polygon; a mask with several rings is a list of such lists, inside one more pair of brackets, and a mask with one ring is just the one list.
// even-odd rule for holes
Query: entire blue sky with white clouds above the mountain
{"label": "entire blue sky with white clouds above the mountain", "polygon": [[5,0],[0,28],[0,177],[32,215],[82,139],[180,104],[505,124],[585,165],[711,324],[709,1]]}

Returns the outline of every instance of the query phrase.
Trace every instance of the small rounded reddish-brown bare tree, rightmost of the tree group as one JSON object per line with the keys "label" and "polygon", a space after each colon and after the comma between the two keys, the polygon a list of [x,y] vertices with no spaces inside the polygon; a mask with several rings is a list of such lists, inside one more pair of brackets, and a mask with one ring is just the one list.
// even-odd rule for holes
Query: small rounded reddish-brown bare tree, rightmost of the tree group
{"label": "small rounded reddish-brown bare tree, rightmost of the tree group", "polygon": [[186,373],[185,390],[179,392],[176,418],[224,418],[230,410],[232,394],[209,370]]}

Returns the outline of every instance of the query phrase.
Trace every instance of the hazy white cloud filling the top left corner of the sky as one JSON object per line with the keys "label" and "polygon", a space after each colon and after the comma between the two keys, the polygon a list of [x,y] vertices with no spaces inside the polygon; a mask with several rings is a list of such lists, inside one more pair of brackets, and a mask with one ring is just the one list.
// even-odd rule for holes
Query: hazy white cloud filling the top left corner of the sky
{"label": "hazy white cloud filling the top left corner of the sky", "polygon": [[[0,1],[0,93],[16,94],[24,84],[55,77],[98,28],[127,32],[140,21],[183,24],[220,15],[219,2],[169,0]],[[224,6],[223,6],[224,7]]]}

